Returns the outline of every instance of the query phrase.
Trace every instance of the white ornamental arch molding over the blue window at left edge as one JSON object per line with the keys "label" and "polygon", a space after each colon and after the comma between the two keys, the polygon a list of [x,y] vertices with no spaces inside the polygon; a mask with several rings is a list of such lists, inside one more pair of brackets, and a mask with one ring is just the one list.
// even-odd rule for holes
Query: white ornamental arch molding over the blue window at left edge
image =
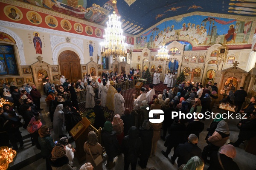
{"label": "white ornamental arch molding over the blue window at left edge", "polygon": [[20,37],[13,31],[9,30],[8,28],[4,28],[4,27],[0,26],[0,31],[4,32],[6,34],[9,34],[15,40],[16,46],[19,51],[20,65],[26,65],[25,54],[24,54],[24,49],[23,49],[23,42],[20,39]]}

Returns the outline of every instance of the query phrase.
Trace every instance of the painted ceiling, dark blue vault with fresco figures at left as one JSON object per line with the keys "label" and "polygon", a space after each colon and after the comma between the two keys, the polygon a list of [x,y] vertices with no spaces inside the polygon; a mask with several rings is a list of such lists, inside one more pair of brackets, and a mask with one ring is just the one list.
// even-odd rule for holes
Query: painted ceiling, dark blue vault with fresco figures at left
{"label": "painted ceiling, dark blue vault with fresco figures at left", "polygon": [[112,11],[125,33],[137,35],[166,17],[195,11],[256,16],[255,0],[19,0],[105,26]]}

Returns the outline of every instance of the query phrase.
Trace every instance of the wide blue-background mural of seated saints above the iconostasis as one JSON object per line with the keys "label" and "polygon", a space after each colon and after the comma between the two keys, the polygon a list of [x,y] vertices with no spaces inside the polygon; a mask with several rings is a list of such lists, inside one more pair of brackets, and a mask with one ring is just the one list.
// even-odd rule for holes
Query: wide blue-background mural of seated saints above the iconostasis
{"label": "wide blue-background mural of seated saints above the iconostasis", "polygon": [[[147,48],[159,48],[164,35],[165,42],[172,41],[177,35],[179,40],[184,39],[196,45],[210,45],[215,43],[217,37],[221,38],[220,42],[231,45],[246,44],[252,24],[251,20],[194,15],[167,21],[166,30],[164,30],[165,23],[161,23],[140,37],[144,39],[147,37]],[[141,46],[135,44],[135,48],[141,48]]]}

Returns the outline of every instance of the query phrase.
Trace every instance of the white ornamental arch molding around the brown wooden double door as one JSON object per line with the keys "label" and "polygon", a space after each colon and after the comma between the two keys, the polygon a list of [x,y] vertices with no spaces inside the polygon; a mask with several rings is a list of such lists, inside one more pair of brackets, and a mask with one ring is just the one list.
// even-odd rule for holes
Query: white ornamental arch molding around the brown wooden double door
{"label": "white ornamental arch molding around the brown wooden double door", "polygon": [[52,60],[53,60],[53,65],[58,65],[58,54],[63,48],[73,48],[78,52],[78,56],[80,58],[80,64],[84,64],[84,54],[83,52],[76,46],[70,43],[64,43],[61,45],[58,45],[54,51],[52,52]]}

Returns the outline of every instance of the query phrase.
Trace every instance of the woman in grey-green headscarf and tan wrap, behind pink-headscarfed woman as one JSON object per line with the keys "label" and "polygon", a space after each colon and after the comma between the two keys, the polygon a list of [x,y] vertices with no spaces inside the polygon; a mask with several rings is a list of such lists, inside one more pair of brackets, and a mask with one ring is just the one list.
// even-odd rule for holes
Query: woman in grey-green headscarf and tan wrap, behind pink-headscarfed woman
{"label": "woman in grey-green headscarf and tan wrap, behind pink-headscarfed woman", "polygon": [[227,142],[229,136],[230,133],[227,122],[221,120],[218,123],[215,132],[207,139],[209,144],[204,147],[204,150],[202,152],[202,158],[204,159],[204,162],[207,161],[207,156],[209,153],[211,153],[212,151],[218,151],[219,148]]}

